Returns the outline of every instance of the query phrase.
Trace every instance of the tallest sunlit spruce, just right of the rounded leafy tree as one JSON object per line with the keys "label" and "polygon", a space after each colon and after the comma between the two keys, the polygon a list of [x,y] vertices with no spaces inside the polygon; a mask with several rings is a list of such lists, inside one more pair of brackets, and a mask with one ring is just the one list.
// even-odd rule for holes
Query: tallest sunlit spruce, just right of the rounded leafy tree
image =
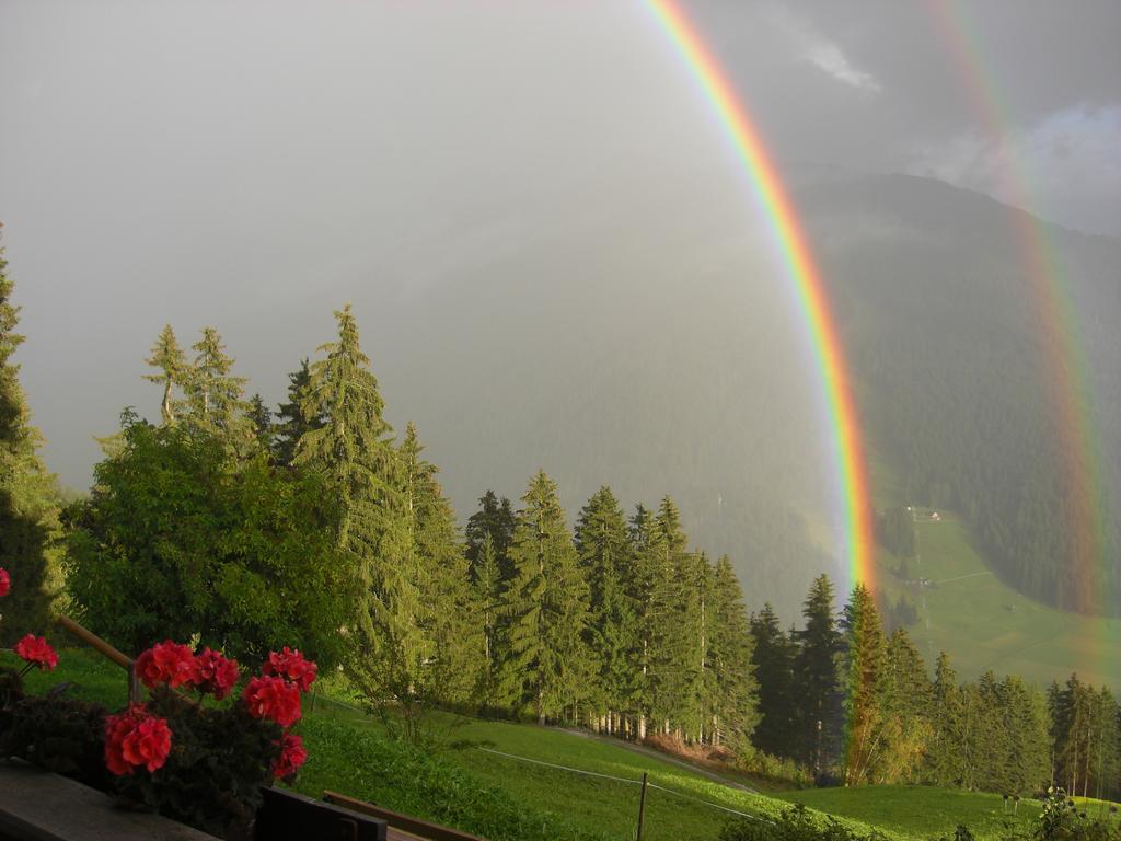
{"label": "tallest sunlit spruce, just right of the rounded leafy tree", "polygon": [[339,501],[337,545],[358,588],[351,680],[371,700],[407,700],[426,648],[400,464],[350,305],[335,318],[339,340],[319,348],[302,404],[305,418],[326,423],[304,433],[295,463],[321,471]]}

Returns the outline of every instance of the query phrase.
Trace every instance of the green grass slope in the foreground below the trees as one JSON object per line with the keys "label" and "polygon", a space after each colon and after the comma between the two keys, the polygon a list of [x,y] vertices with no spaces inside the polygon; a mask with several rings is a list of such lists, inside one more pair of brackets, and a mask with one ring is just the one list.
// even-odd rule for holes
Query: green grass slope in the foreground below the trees
{"label": "green grass slope in the foreground below the trees", "polygon": [[[12,663],[11,655],[0,654],[0,664]],[[62,650],[58,669],[33,673],[28,690],[41,692],[58,683],[73,683],[81,696],[110,708],[124,703],[123,673],[87,649]],[[995,841],[1011,820],[1000,797],[927,787],[752,794],[586,736],[475,719],[437,717],[434,727],[444,747],[428,757],[388,740],[377,719],[323,697],[315,708],[305,708],[299,726],[311,758],[297,788],[314,796],[334,789],[484,835],[482,828],[504,828],[490,834],[495,839],[627,841],[633,837],[637,782],[643,771],[668,789],[648,792],[650,841],[714,841],[730,814],[724,810],[767,816],[795,802],[860,831],[874,826],[898,841],[952,835],[958,823],[982,841]],[[490,752],[495,750],[524,759]],[[1037,810],[1021,803],[1016,820],[1027,823]],[[517,820],[526,823],[510,829]]]}

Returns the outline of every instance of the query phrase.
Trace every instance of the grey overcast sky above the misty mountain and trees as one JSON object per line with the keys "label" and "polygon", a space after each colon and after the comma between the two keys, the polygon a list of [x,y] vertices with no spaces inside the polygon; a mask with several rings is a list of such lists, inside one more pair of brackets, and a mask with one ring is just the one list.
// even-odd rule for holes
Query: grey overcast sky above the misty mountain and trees
{"label": "grey overcast sky above the misty mountain and trees", "polygon": [[[1121,235],[1121,3],[685,8],[780,160],[933,175]],[[282,383],[342,301],[454,279],[559,206],[583,209],[574,230],[641,206],[667,173],[736,177],[641,2],[0,0],[19,359],[75,486],[90,435],[150,397],[164,322],[216,323]]]}

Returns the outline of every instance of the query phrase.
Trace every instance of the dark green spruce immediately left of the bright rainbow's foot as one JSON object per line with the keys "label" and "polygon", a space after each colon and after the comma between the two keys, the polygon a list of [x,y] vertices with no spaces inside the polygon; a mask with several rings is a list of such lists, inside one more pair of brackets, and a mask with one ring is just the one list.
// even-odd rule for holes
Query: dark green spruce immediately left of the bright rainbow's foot
{"label": "dark green spruce immediately left of the bright rainbow's foot", "polygon": [[794,662],[797,757],[824,774],[836,758],[843,724],[837,656],[842,638],[833,614],[833,584],[819,575],[803,607],[806,625],[796,635]]}

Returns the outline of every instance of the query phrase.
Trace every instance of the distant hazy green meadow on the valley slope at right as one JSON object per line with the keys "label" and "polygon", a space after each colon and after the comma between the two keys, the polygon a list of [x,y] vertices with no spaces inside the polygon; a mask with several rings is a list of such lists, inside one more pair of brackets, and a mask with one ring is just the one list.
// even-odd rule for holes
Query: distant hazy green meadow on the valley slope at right
{"label": "distant hazy green meadow on the valley slope at right", "polygon": [[909,564],[911,577],[933,586],[904,584],[899,562],[887,553],[878,565],[877,586],[892,599],[907,593],[918,608],[909,630],[929,660],[945,650],[963,677],[991,668],[1045,685],[1077,672],[1084,681],[1117,687],[1121,619],[1066,613],[1019,594],[989,571],[958,517],[939,516],[917,523],[919,560]]}

